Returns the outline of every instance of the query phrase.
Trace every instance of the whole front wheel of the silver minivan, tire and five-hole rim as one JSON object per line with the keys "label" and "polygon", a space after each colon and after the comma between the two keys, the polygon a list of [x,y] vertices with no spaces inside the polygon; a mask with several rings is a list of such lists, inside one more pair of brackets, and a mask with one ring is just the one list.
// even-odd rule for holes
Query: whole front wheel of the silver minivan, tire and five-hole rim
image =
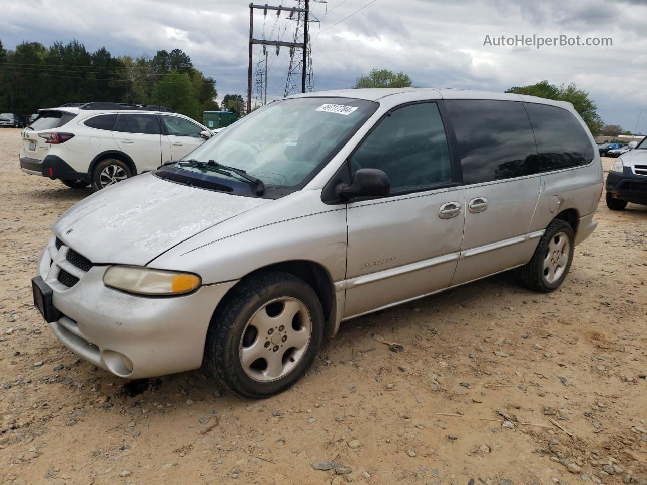
{"label": "whole front wheel of the silver minivan, tire and five-hole rim", "polygon": [[251,275],[214,314],[205,361],[230,391],[265,398],[294,384],[323,339],[323,310],[302,279],[283,272]]}

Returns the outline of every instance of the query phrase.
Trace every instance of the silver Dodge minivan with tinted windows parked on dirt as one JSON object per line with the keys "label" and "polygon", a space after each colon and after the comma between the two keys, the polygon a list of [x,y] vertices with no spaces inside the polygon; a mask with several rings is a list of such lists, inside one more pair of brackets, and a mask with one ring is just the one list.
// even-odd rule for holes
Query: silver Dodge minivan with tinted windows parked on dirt
{"label": "silver Dodge minivan with tinted windows parked on dirt", "polygon": [[204,362],[234,393],[269,396],[344,320],[512,268],[532,290],[558,288],[601,192],[570,103],[302,94],[72,206],[34,302],[69,349],[116,376]]}

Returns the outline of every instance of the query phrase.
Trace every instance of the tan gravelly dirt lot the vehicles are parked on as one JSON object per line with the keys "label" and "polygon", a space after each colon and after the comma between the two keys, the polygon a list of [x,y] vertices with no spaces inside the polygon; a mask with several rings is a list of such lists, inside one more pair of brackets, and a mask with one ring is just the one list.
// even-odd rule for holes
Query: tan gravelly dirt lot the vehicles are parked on
{"label": "tan gravelly dirt lot the vehicles are parked on", "polygon": [[206,369],[124,387],[54,338],[30,279],[89,191],[22,173],[19,143],[0,131],[2,484],[647,484],[647,207],[602,202],[553,294],[504,274],[347,322],[246,401]]}

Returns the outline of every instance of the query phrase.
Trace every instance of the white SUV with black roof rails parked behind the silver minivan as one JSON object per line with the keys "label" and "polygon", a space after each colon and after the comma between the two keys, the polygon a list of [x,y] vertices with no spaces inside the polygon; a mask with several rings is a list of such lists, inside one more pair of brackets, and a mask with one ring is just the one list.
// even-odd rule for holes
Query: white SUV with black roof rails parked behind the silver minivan
{"label": "white SUV with black roof rails parked behind the silver minivan", "polygon": [[39,110],[22,132],[20,167],[94,190],[180,160],[214,132],[157,105],[85,103]]}

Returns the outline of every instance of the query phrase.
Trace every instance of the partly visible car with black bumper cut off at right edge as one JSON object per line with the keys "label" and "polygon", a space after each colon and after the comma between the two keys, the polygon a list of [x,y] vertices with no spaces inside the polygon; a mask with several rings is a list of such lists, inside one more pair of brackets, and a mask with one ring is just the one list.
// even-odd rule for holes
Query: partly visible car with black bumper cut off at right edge
{"label": "partly visible car with black bumper cut off at right edge", "polygon": [[642,138],[635,149],[622,154],[609,168],[607,207],[623,210],[628,202],[647,204],[647,138]]}

